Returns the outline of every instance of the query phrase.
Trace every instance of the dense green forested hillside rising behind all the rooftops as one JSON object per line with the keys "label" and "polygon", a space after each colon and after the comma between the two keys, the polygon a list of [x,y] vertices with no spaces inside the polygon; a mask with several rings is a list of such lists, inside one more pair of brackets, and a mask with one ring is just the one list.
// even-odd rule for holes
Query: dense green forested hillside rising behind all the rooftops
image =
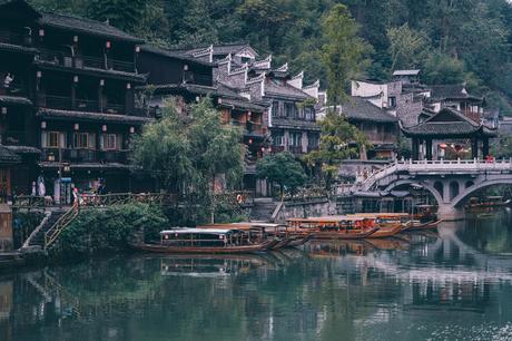
{"label": "dense green forested hillside rising behind all the rooftops", "polygon": [[[339,2],[30,0],[42,10],[109,19],[163,46],[246,41],[260,57],[272,53],[276,64],[289,61],[292,72],[304,69],[306,82],[319,78],[325,88],[328,82],[336,95],[332,100],[343,97],[346,80],[362,71],[386,79],[395,67],[414,66],[423,69],[430,84],[466,81],[477,95],[491,95],[488,106],[512,114],[508,109],[512,98],[510,1],[345,0],[346,7]],[[366,57],[370,46],[374,49],[371,66],[365,58],[352,58],[361,50]]]}

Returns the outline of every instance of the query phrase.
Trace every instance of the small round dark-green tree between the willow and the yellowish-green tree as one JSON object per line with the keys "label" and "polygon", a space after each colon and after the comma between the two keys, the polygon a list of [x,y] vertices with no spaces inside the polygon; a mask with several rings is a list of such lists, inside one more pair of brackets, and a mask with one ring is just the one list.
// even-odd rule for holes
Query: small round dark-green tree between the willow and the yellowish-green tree
{"label": "small round dark-green tree between the willow and the yellowish-green tree", "polygon": [[291,153],[267,155],[256,163],[258,178],[266,178],[270,183],[279,185],[280,196],[285,188],[295,192],[306,182],[306,173],[303,166]]}

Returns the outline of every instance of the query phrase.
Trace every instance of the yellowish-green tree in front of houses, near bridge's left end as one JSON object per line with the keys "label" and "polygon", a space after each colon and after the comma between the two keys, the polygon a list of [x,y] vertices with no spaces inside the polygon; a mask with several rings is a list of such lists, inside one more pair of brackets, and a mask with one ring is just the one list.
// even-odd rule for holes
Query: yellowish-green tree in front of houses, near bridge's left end
{"label": "yellowish-green tree in front of houses, near bridge's left end", "polygon": [[360,129],[334,110],[328,110],[319,125],[322,128],[319,148],[307,154],[305,160],[311,166],[317,164],[322,166],[326,188],[331,189],[342,162],[365,153],[370,144]]}

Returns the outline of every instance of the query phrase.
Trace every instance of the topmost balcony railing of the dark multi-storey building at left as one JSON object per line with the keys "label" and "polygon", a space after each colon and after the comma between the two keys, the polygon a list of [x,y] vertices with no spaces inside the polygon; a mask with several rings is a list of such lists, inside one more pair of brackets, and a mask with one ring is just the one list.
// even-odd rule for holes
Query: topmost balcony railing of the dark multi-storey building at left
{"label": "topmost balcony railing of the dark multi-storey building at left", "polygon": [[83,67],[88,67],[102,70],[135,72],[135,64],[132,61],[124,61],[111,58],[101,58],[92,56],[72,56],[69,52],[57,51],[51,49],[41,49],[39,57],[41,60],[45,60],[47,62],[69,68],[81,69]]}

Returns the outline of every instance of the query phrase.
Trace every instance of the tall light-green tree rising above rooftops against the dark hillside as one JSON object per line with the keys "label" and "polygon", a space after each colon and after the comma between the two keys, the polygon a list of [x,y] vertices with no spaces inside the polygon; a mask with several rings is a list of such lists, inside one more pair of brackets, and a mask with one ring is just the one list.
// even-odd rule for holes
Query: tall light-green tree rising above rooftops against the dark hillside
{"label": "tall light-green tree rising above rooftops against the dark hillside", "polygon": [[327,70],[328,98],[336,106],[347,98],[352,78],[368,65],[371,46],[357,36],[358,25],[344,4],[331,9],[322,22],[322,60]]}

